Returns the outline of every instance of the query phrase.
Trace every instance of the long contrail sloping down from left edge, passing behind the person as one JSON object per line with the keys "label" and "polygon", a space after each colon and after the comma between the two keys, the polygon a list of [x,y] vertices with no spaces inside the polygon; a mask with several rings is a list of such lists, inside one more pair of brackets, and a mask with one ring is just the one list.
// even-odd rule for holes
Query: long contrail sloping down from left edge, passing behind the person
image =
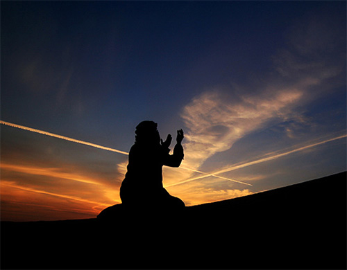
{"label": "long contrail sloping down from left edge, passing behind the person", "polygon": [[[0,124],[8,125],[9,127],[17,127],[18,129],[24,129],[24,130],[27,130],[29,132],[35,132],[35,133],[38,133],[38,134],[43,134],[43,135],[51,136],[51,137],[54,137],[54,138],[61,138],[62,140],[71,141],[73,143],[81,143],[83,145],[88,145],[88,146],[96,147],[96,148],[99,148],[99,149],[102,149],[102,150],[116,152],[116,153],[119,153],[119,154],[125,154],[125,155],[129,154],[128,152],[124,152],[124,151],[121,151],[121,150],[113,149],[113,148],[110,148],[110,147],[105,147],[105,146],[102,146],[102,145],[96,145],[95,143],[88,143],[88,142],[85,142],[85,141],[76,140],[75,138],[69,138],[69,137],[66,137],[66,136],[53,134],[51,132],[44,132],[44,131],[42,131],[40,129],[33,129],[31,127],[24,127],[23,125],[16,125],[16,124],[8,123],[8,122],[2,121],[2,120],[0,120]],[[198,171],[198,170],[192,170],[192,169],[189,169],[189,168],[184,168],[184,167],[180,167],[180,168],[182,168],[183,170],[190,170],[192,172],[198,172],[198,173],[201,173],[201,174],[208,174],[206,172],[201,172],[201,171]],[[219,176],[214,175],[214,174],[208,174],[208,176],[217,177],[217,178],[221,178],[221,179],[226,179],[226,180],[229,180],[229,181],[233,181],[233,182],[237,182],[237,183],[243,183],[245,185],[252,186],[250,183],[244,183],[242,181],[237,181],[235,179],[228,179],[226,177],[219,177]],[[171,185],[171,186],[173,186],[173,185]]]}

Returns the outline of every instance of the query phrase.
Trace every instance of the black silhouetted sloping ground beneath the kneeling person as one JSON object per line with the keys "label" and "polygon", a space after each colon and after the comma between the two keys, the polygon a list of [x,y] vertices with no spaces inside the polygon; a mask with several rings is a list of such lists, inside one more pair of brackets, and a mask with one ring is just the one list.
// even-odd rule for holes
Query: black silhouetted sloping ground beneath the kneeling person
{"label": "black silhouetted sloping ground beneath the kneeling person", "polygon": [[346,269],[346,172],[176,215],[1,222],[1,269]]}

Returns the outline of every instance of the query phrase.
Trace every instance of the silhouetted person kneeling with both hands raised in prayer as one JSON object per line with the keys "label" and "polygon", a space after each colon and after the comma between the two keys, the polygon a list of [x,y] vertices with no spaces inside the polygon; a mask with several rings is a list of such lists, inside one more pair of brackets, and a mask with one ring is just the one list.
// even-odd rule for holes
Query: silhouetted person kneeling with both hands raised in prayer
{"label": "silhouetted person kneeling with both hands raised in prayer", "polygon": [[120,188],[121,201],[126,207],[170,210],[185,207],[181,199],[169,195],[162,186],[162,166],[179,167],[183,160],[183,130],[177,131],[177,143],[171,155],[172,136],[169,134],[163,142],[157,126],[153,121],[143,121],[136,127],[128,171]]}

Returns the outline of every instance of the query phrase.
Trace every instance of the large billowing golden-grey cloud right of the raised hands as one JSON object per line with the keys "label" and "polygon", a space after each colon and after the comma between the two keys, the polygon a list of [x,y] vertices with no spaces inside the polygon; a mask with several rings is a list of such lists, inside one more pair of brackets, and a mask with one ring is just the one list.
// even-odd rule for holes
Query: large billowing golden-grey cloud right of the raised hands
{"label": "large billowing golden-grey cloud right of the raised hands", "polygon": [[270,120],[288,118],[301,97],[302,92],[296,88],[237,99],[218,90],[202,93],[182,114],[187,126],[185,164],[197,169],[210,156],[230,149]]}

